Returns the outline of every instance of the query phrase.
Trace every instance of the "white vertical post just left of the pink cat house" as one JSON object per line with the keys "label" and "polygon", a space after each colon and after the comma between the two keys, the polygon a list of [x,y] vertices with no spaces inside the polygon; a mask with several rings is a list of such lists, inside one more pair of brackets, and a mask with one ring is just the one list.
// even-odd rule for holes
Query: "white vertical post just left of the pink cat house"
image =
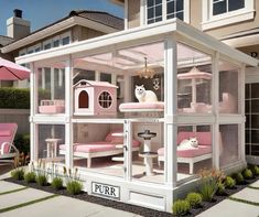
{"label": "white vertical post just left of the pink cat house", "polygon": [[71,56],[65,63],[65,164],[66,167],[73,169],[73,65]]}

